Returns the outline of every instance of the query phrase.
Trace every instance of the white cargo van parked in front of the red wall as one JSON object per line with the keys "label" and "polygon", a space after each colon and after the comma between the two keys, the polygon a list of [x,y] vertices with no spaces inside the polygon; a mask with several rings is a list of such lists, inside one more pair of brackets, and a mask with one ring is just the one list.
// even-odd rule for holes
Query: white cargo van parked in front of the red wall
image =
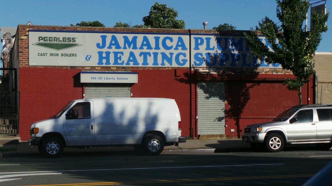
{"label": "white cargo van parked in front of the red wall", "polygon": [[134,146],[149,155],[186,142],[174,99],[94,98],[69,102],[58,114],[30,126],[29,145],[57,157],[64,147]]}

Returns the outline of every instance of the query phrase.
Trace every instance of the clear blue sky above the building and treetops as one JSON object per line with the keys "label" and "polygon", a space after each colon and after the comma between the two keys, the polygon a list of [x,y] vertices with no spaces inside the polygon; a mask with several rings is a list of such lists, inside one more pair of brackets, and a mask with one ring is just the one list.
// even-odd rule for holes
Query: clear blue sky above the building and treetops
{"label": "clear blue sky above the building and treetops", "polygon": [[[142,18],[148,15],[155,2],[178,11],[177,19],[184,20],[186,28],[202,29],[202,23],[208,22],[207,28],[228,23],[238,30],[249,30],[265,16],[279,22],[275,0],[0,0],[0,26],[16,27],[29,21],[37,25],[62,26],[95,20],[107,27],[119,21],[143,24]],[[327,9],[331,9],[332,2],[326,4]],[[323,33],[317,52],[332,52],[331,15],[327,25],[329,30]]]}

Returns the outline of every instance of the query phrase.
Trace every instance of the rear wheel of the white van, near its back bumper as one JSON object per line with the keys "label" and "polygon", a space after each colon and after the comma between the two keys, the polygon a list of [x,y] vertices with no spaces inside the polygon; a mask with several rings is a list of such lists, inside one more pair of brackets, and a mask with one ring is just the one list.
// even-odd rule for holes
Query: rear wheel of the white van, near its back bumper
{"label": "rear wheel of the white van, near its back bumper", "polygon": [[157,135],[150,135],[144,139],[143,149],[148,155],[158,155],[164,150],[164,140]]}

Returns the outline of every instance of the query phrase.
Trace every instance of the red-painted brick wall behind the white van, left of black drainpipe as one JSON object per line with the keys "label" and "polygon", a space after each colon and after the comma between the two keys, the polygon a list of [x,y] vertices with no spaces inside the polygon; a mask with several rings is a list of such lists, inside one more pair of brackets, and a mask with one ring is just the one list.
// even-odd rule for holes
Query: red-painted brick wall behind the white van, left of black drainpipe
{"label": "red-painted brick wall behind the white van, left of black drainpipe", "polygon": [[[30,138],[30,125],[56,114],[73,99],[82,99],[83,88],[74,77],[79,69],[20,68],[20,137]],[[138,72],[138,83],[131,87],[132,97],[160,97],[175,99],[178,104],[182,135],[189,136],[189,92],[186,82],[175,78],[185,78],[186,69],[132,70]]]}

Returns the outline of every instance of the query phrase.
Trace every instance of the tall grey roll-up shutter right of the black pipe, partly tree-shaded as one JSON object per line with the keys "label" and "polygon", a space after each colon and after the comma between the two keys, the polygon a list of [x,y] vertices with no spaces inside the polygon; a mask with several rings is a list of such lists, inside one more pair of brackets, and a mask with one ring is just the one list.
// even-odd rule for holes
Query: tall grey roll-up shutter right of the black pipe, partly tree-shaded
{"label": "tall grey roll-up shutter right of the black pipe, partly tree-shaded", "polygon": [[225,134],[225,86],[198,83],[198,134]]}

